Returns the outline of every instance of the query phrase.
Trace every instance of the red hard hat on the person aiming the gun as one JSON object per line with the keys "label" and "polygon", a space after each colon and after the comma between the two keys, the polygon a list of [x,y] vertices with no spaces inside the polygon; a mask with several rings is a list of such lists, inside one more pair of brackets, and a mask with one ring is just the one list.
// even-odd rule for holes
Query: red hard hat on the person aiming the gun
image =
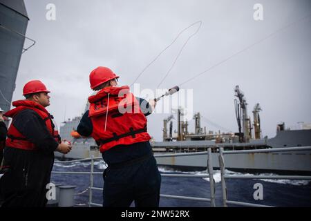
{"label": "red hard hat on the person aiming the gun", "polygon": [[115,75],[112,70],[106,67],[98,67],[92,70],[90,74],[90,84],[91,88],[94,89],[100,84],[103,84],[111,79],[118,78],[119,76]]}

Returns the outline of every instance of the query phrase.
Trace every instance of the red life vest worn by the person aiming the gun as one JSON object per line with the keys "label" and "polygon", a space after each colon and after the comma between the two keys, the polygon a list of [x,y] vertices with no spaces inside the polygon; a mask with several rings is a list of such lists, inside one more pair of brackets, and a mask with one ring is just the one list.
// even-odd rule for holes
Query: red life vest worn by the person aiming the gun
{"label": "red life vest worn by the person aiming the gun", "polygon": [[93,124],[91,136],[100,144],[100,152],[120,144],[147,142],[147,118],[129,86],[108,87],[88,97],[88,117]]}

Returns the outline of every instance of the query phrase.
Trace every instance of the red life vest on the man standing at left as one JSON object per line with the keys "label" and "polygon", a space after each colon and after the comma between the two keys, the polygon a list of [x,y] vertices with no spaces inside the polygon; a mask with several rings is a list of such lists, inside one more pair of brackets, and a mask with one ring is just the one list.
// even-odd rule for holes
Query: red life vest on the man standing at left
{"label": "red life vest on the man standing at left", "polygon": [[[40,104],[37,104],[36,102],[28,101],[28,100],[19,100],[12,103],[13,106],[16,108],[6,112],[7,117],[14,117],[21,111],[25,109],[30,109],[32,111],[35,111],[42,119],[44,119],[44,122],[46,123],[46,128],[48,129],[48,132],[50,135],[54,137],[54,139],[57,142],[60,142],[60,137],[58,134],[58,131],[55,130],[54,124],[52,123],[52,116],[48,111],[46,111],[46,108],[41,106]],[[12,147],[12,148],[20,148],[27,151],[33,151],[36,149],[35,144],[28,141],[24,135],[22,135],[17,128],[13,125],[13,123],[8,128],[8,138],[6,139],[6,146]]]}

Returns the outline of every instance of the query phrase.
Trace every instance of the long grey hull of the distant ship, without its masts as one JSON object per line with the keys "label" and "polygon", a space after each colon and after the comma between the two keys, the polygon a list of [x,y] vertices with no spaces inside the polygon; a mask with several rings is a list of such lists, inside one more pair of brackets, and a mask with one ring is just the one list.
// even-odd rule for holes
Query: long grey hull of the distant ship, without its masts
{"label": "long grey hull of the distant ship, without its masts", "polygon": [[[83,140],[83,139],[81,139]],[[101,156],[95,142],[74,142],[73,149],[67,155],[56,153],[56,157],[82,159]],[[284,148],[311,146],[311,130],[280,131],[272,139],[251,140],[247,143],[216,143],[214,140],[155,142],[151,144],[155,155],[171,153],[189,153],[212,150],[212,165],[219,169],[218,148],[225,151],[254,148]],[[162,152],[158,152],[162,151]],[[173,157],[156,157],[158,165],[180,167],[187,170],[206,169],[207,154]],[[267,173],[311,173],[311,151],[288,151],[274,153],[238,153],[224,155],[225,168],[232,171],[263,171]]]}

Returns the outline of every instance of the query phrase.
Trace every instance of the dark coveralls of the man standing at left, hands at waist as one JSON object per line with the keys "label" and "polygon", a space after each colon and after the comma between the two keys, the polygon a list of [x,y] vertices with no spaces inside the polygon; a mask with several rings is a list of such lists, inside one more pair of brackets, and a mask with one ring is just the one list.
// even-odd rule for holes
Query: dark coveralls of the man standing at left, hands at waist
{"label": "dark coveralls of the man standing at left, hands at waist", "polygon": [[9,146],[4,148],[5,173],[0,179],[0,195],[4,200],[2,206],[45,206],[48,191],[46,184],[50,182],[54,151],[58,143],[35,111],[21,111],[13,118],[12,124],[35,144],[37,150],[26,151]]}

